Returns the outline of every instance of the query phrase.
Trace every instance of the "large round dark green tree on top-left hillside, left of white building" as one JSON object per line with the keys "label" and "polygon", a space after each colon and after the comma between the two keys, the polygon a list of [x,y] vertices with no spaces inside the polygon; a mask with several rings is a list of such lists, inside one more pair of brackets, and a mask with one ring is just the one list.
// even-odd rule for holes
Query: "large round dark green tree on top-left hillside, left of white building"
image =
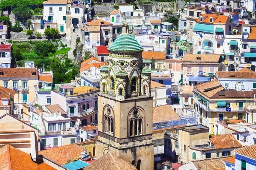
{"label": "large round dark green tree on top-left hillside, left of white building", "polygon": [[33,15],[31,8],[25,5],[17,6],[17,8],[12,10],[12,13],[15,14],[16,19],[21,22],[26,22]]}

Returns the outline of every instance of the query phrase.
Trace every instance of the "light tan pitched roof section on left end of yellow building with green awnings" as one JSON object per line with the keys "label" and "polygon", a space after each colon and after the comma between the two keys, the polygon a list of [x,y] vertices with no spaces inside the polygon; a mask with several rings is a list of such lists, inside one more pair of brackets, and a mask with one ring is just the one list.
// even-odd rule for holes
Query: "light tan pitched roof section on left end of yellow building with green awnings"
{"label": "light tan pitched roof section on left end of yellow building with green awnings", "polygon": [[222,87],[221,83],[219,83],[218,80],[212,80],[210,82],[205,82],[201,85],[195,85],[193,90],[200,95],[203,94],[204,96],[210,98],[218,93],[218,91],[224,90],[224,87]]}

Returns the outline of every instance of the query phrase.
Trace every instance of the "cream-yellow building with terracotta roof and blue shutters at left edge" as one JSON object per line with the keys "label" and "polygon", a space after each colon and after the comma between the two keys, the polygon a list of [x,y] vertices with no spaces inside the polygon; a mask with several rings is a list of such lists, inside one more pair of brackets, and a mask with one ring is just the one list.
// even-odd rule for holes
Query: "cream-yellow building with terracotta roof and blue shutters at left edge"
{"label": "cream-yellow building with terracotta roof and blue shutters at left edge", "polygon": [[37,68],[1,68],[0,86],[15,90],[15,103],[35,102]]}

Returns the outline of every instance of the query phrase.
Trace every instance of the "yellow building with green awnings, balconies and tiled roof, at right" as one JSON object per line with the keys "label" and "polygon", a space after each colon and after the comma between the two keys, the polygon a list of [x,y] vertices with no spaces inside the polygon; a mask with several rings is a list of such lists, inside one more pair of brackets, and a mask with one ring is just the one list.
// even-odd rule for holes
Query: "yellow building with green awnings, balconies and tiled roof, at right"
{"label": "yellow building with green awnings, balconies and tiled roof, at right", "polygon": [[244,119],[245,107],[253,104],[253,91],[225,91],[217,81],[212,80],[196,85],[194,91],[194,112],[196,122],[209,127],[209,133],[214,133],[214,121]]}

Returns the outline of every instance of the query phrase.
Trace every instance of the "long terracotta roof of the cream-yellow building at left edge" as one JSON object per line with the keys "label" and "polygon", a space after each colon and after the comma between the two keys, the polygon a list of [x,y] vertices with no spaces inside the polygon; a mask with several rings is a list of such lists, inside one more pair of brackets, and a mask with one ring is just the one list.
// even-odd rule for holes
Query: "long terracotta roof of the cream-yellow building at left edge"
{"label": "long terracotta roof of the cream-yellow building at left edge", "polygon": [[[35,79],[38,79],[37,68],[0,68],[0,72],[3,72],[3,75],[0,74],[0,79],[1,77],[34,77]],[[35,73],[35,75],[32,75],[32,72]]]}

